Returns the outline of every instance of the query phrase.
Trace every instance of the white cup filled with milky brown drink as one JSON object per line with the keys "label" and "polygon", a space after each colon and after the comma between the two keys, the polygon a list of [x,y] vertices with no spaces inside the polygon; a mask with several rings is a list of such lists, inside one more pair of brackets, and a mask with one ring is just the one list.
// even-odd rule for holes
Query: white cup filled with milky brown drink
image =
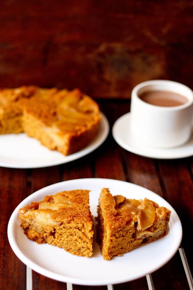
{"label": "white cup filled with milky brown drink", "polygon": [[[178,105],[173,103],[176,98]],[[131,92],[131,133],[152,147],[180,146],[191,136],[192,110],[193,91],[187,86],[168,80],[142,82]]]}

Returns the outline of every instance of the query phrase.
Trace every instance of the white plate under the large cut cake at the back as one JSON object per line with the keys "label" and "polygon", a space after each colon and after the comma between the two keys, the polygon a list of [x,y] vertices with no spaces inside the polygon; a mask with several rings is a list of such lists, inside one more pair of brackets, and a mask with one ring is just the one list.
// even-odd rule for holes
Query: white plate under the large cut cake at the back
{"label": "white plate under the large cut cake at the back", "polygon": [[82,150],[64,156],[41,145],[34,138],[26,134],[0,135],[0,166],[9,168],[38,168],[67,163],[85,156],[98,148],[109,134],[109,122],[101,113],[102,121],[98,135]]}

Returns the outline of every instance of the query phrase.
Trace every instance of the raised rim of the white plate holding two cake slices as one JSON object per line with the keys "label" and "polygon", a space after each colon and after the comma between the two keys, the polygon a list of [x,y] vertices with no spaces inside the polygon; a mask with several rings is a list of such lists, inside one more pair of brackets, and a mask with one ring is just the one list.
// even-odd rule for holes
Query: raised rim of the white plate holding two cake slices
{"label": "raised rim of the white plate holding two cake slices", "polygon": [[[164,260],[164,263],[162,263],[161,265],[157,266],[157,268],[154,268],[153,271],[151,272],[154,272],[156,271],[157,269],[161,268],[163,265],[165,265],[177,252],[179,246],[180,246],[180,243],[182,241],[182,224],[181,224],[181,221],[178,217],[178,214],[176,213],[176,211],[174,210],[174,208],[164,199],[162,198],[160,195],[157,195],[156,193],[152,192],[151,190],[147,189],[147,188],[144,188],[140,185],[136,185],[134,183],[131,183],[131,182],[126,182],[126,181],[121,181],[121,180],[116,180],[116,179],[106,179],[106,178],[83,178],[83,179],[72,179],[72,180],[66,180],[66,181],[62,181],[62,182],[57,182],[57,183],[54,183],[52,185],[48,185],[46,187],[43,187],[39,190],[37,190],[36,192],[33,192],[31,195],[29,195],[28,197],[26,197],[23,201],[21,201],[19,203],[19,205],[17,205],[17,207],[14,209],[13,213],[11,214],[11,217],[9,219],[9,222],[8,222],[8,230],[7,230],[7,233],[8,233],[8,240],[9,240],[9,243],[10,243],[10,246],[12,248],[12,250],[14,251],[15,255],[27,266],[29,266],[31,269],[33,269],[34,271],[36,272],[39,272],[40,274],[46,276],[46,277],[49,277],[51,279],[54,279],[54,280],[58,280],[58,281],[61,281],[61,282],[71,282],[73,284],[78,284],[78,285],[107,285],[107,284],[118,284],[118,283],[123,283],[123,282],[129,282],[129,281],[132,281],[134,279],[138,279],[138,278],[141,278],[151,272],[145,272],[142,273],[142,274],[136,274],[135,277],[133,277],[133,279],[127,279],[124,277],[119,277],[118,278],[114,278],[114,279],[106,279],[103,281],[96,281],[96,280],[90,280],[90,279],[80,279],[80,278],[73,278],[73,277],[70,277],[70,276],[66,276],[66,275],[61,275],[61,274],[58,274],[58,273],[54,273],[53,271],[50,271],[49,269],[45,269],[44,267],[38,265],[36,262],[32,261],[30,259],[30,257],[26,257],[24,255],[24,253],[22,252],[21,248],[19,247],[19,245],[16,243],[16,228],[14,228],[14,224],[16,223],[16,216],[17,216],[17,219],[18,219],[18,209],[23,207],[24,205],[27,205],[29,203],[29,201],[31,199],[34,199],[36,198],[36,196],[40,195],[42,192],[47,192],[49,190],[53,190],[55,187],[60,187],[61,185],[63,185],[65,183],[65,185],[68,186],[68,183],[76,183],[76,182],[99,182],[99,181],[103,181],[103,182],[118,182],[118,183],[125,183],[125,185],[127,184],[128,186],[131,186],[131,188],[136,188],[139,189],[139,190],[144,190],[144,192],[149,192],[150,195],[153,195],[153,196],[156,196],[158,198],[158,200],[160,201],[164,201],[164,203],[166,204],[165,206],[167,206],[170,210],[172,210],[172,219],[170,219],[170,224],[176,224],[176,226],[179,227],[179,232],[178,232],[178,241],[175,241],[176,243],[176,247],[174,247],[174,249],[172,249],[172,255],[170,255],[166,260]],[[91,190],[92,191],[92,190]],[[55,191],[56,192],[56,191]],[[43,193],[42,193],[43,194]],[[47,195],[48,193],[46,193]],[[52,194],[52,193],[49,193],[49,194]],[[30,201],[31,202],[31,201]],[[18,254],[19,252],[19,254]],[[91,257],[92,259],[92,257]],[[27,261],[27,263],[26,263]],[[108,261],[109,262],[109,261]]]}

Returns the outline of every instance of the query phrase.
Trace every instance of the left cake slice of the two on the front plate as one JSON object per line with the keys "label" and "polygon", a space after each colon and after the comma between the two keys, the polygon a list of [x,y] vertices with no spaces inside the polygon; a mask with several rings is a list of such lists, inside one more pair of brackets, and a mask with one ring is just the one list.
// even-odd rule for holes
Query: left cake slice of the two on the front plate
{"label": "left cake slice of the two on the front plate", "polygon": [[93,216],[89,190],[70,190],[49,195],[19,210],[21,227],[28,239],[90,257],[93,252]]}

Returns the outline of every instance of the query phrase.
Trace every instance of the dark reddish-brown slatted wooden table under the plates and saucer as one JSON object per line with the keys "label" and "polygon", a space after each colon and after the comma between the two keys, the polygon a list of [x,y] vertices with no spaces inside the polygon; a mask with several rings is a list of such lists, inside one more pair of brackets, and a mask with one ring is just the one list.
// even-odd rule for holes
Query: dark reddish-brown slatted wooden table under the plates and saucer
{"label": "dark reddish-brown slatted wooden table under the plates and saucer", "polygon": [[[192,289],[193,158],[150,159],[124,150],[113,139],[111,129],[115,120],[130,110],[130,101],[99,100],[99,105],[109,120],[110,132],[106,141],[94,152],[70,163],[48,168],[0,167],[1,289]],[[121,285],[66,284],[33,270],[31,279],[31,270],[28,267],[26,269],[8,242],[7,226],[11,213],[24,198],[36,190],[56,182],[79,178],[123,180],[148,188],[166,199],[176,210],[183,227],[182,244],[175,256],[150,275]]]}

